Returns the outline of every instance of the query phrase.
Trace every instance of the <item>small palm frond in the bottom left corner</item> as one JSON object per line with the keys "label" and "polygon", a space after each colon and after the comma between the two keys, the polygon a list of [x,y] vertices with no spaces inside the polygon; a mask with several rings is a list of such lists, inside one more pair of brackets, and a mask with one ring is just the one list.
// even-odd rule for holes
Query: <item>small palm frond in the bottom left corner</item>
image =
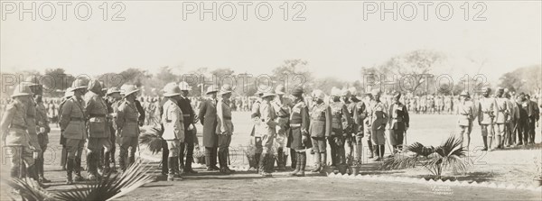
{"label": "small palm frond in the bottom left corner", "polygon": [[40,184],[33,178],[0,179],[3,183],[19,192],[21,197],[12,197],[14,200],[53,200],[53,194],[43,189],[43,187],[41,187]]}

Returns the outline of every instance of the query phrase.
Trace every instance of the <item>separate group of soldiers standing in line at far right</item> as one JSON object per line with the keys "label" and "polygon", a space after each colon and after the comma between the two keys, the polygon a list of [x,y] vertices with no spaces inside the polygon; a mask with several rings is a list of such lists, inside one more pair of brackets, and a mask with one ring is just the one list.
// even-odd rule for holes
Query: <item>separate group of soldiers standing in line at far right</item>
{"label": "separate group of soldiers standing in line at far right", "polygon": [[534,144],[535,127],[540,118],[538,106],[528,94],[520,93],[512,96],[508,89],[499,87],[494,96],[490,96],[491,88],[484,87],[482,96],[475,104],[470,100],[468,92],[461,94],[462,100],[457,106],[459,114],[459,137],[463,146],[470,146],[472,122],[478,119],[483,140],[482,151],[503,149],[509,146]]}

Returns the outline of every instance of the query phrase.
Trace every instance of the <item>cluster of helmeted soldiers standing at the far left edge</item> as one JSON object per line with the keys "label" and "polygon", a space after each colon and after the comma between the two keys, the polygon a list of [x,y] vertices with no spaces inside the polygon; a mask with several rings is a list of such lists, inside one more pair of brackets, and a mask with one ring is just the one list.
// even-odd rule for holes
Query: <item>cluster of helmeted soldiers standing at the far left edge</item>
{"label": "cluster of helmeted soldiers standing at the far left edge", "polygon": [[0,122],[4,147],[11,153],[10,176],[33,178],[42,185],[50,182],[43,175],[43,152],[51,131],[42,101],[42,86],[37,78],[27,78],[15,87],[13,101],[5,107]]}

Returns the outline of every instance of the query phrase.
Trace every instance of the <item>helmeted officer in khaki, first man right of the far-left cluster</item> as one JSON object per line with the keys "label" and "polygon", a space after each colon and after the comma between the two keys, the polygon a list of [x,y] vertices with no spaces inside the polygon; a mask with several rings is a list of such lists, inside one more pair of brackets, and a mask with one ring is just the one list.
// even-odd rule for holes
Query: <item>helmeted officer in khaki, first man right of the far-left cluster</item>
{"label": "helmeted officer in khaki, first man right of the far-left cluster", "polygon": [[73,184],[71,173],[75,171],[75,180],[82,181],[81,177],[81,155],[83,146],[88,137],[86,129],[86,117],[84,110],[83,95],[87,91],[87,81],[76,79],[71,84],[70,90],[73,96],[66,100],[61,109],[61,132],[66,138],[66,150],[68,160],[66,161],[66,184]]}

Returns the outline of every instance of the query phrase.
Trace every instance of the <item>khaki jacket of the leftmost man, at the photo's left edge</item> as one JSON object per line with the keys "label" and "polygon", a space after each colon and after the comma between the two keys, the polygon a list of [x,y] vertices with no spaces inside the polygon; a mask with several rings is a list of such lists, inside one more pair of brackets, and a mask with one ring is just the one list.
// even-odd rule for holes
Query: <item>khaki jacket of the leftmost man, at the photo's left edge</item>
{"label": "khaki jacket of the leftmost man, at the photo's left edge", "polygon": [[15,99],[5,108],[0,122],[2,141],[7,146],[30,146],[30,136],[26,129],[26,106]]}

